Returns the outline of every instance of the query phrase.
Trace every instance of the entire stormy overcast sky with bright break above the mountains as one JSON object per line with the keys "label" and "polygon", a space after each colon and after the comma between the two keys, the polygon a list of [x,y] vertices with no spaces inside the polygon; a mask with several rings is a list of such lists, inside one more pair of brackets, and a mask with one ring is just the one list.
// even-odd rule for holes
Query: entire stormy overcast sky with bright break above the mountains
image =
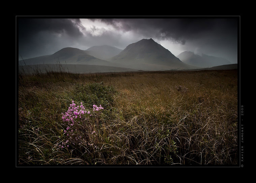
{"label": "entire stormy overcast sky with bright break above the mountains", "polygon": [[17,16],[19,59],[53,54],[65,47],[97,45],[125,49],[152,38],[175,56],[183,51],[208,54],[237,63],[238,17],[146,17],[104,19]]}

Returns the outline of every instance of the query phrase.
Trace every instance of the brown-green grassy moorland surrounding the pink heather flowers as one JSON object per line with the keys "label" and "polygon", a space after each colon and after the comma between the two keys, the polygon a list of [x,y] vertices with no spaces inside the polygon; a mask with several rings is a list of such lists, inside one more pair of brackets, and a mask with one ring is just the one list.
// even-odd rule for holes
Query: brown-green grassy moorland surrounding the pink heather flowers
{"label": "brown-green grassy moorland surrounding the pink heather flowers", "polygon": [[[37,72],[17,82],[18,166],[237,164],[237,70]],[[74,105],[90,114],[67,120]]]}

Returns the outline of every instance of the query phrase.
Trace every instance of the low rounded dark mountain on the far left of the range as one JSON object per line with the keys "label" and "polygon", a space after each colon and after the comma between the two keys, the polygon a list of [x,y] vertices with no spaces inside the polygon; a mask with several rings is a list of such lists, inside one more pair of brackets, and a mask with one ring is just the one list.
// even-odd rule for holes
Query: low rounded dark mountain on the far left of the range
{"label": "low rounded dark mountain on the far left of the range", "polygon": [[85,50],[78,48],[63,48],[54,54],[20,60],[19,65],[35,65],[35,64],[87,64],[87,65],[104,65],[117,66],[111,62],[95,58]]}

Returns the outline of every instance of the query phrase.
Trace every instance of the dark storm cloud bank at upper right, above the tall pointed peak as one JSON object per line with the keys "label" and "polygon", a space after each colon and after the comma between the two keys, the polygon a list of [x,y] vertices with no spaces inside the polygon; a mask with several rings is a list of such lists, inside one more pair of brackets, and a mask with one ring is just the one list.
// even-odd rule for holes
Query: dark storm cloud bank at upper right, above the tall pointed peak
{"label": "dark storm cloud bank at upper right, above the tall pointed peak", "polygon": [[[159,39],[171,39],[185,44],[186,40],[204,36],[229,36],[237,30],[236,19],[100,19],[119,30],[136,31]],[[237,31],[236,31],[237,33]],[[237,35],[233,35],[237,39]]]}

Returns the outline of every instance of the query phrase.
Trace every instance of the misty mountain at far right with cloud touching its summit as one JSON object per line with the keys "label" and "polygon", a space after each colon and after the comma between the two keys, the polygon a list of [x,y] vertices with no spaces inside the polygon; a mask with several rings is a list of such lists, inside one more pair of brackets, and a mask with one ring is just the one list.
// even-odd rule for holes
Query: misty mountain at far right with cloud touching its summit
{"label": "misty mountain at far right with cloud touching its summit", "polygon": [[209,56],[206,54],[202,54],[202,56],[200,56],[191,51],[184,51],[177,57],[186,64],[204,68],[232,64],[224,58]]}

